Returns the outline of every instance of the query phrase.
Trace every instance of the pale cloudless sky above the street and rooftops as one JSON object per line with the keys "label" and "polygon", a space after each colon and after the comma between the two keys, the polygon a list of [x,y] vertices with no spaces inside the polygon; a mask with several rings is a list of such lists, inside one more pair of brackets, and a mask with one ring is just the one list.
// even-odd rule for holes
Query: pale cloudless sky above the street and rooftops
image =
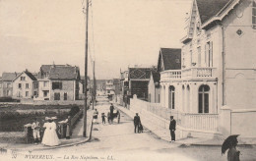
{"label": "pale cloudless sky above the street and rooftops", "polygon": [[[0,74],[70,64],[85,75],[86,0],[0,0]],[[191,0],[92,0],[89,64],[96,79],[157,66],[160,47],[180,48]]]}

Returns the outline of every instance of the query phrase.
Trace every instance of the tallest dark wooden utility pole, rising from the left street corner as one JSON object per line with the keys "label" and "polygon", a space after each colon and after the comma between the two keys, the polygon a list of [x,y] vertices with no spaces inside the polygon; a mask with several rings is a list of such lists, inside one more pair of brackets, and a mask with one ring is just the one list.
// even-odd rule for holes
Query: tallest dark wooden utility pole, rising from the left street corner
{"label": "tallest dark wooden utility pole, rising from the left street corner", "polygon": [[88,19],[89,19],[89,0],[87,1],[87,8],[86,8],[86,14],[87,14],[87,20],[86,20],[86,48],[85,48],[85,107],[84,107],[84,132],[83,136],[87,136],[87,86],[88,86]]}

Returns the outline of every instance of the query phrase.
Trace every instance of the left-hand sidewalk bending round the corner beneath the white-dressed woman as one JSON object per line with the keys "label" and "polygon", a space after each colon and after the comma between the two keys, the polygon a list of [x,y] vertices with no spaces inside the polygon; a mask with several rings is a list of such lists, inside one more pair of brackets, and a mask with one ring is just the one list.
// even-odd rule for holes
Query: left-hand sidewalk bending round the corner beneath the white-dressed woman
{"label": "left-hand sidewalk bending round the corner beneath the white-dressed woman", "polygon": [[16,150],[16,151],[38,151],[38,150],[48,150],[60,147],[67,147],[73,146],[80,143],[85,143],[89,141],[90,134],[91,134],[91,126],[92,125],[92,118],[93,118],[94,111],[89,109],[87,112],[87,137],[83,137],[83,121],[84,119],[80,119],[73,129],[73,133],[70,139],[62,138],[60,139],[60,144],[57,146],[45,146],[43,144],[34,145],[32,143],[1,143],[0,148],[8,149],[8,150]]}

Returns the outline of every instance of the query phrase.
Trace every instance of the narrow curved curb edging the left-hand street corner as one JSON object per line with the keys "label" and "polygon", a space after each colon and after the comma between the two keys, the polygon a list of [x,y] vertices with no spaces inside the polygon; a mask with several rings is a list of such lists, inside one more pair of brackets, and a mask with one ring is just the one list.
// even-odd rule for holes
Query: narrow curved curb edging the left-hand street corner
{"label": "narrow curved curb edging the left-hand street corner", "polygon": [[[32,150],[30,150],[30,149],[22,149],[22,148],[10,148],[10,149],[7,149],[7,150],[11,150],[11,151],[42,151],[42,150],[50,150],[50,149],[56,149],[56,148],[61,148],[61,147],[69,147],[69,146],[74,146],[74,145],[79,145],[79,144],[82,144],[82,143],[86,143],[86,142],[90,141],[91,138],[92,138],[93,125],[94,125],[94,124],[93,124],[93,119],[92,119],[89,137],[87,137],[86,139],[77,141],[77,142],[68,143],[68,144],[63,144],[63,145],[58,145],[58,146],[49,146],[49,147],[43,147],[43,148],[34,148],[34,149],[32,149]],[[81,139],[82,139],[82,138],[81,138]]]}

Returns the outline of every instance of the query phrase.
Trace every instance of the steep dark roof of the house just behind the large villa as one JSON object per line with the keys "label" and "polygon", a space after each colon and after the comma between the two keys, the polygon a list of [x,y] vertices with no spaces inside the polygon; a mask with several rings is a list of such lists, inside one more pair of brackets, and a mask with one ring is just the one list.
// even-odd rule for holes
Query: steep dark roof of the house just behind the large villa
{"label": "steep dark roof of the house just behind the large villa", "polygon": [[[177,61],[178,60],[178,61]],[[161,63],[163,69],[161,69]],[[180,70],[181,69],[181,49],[160,48],[158,71]]]}

